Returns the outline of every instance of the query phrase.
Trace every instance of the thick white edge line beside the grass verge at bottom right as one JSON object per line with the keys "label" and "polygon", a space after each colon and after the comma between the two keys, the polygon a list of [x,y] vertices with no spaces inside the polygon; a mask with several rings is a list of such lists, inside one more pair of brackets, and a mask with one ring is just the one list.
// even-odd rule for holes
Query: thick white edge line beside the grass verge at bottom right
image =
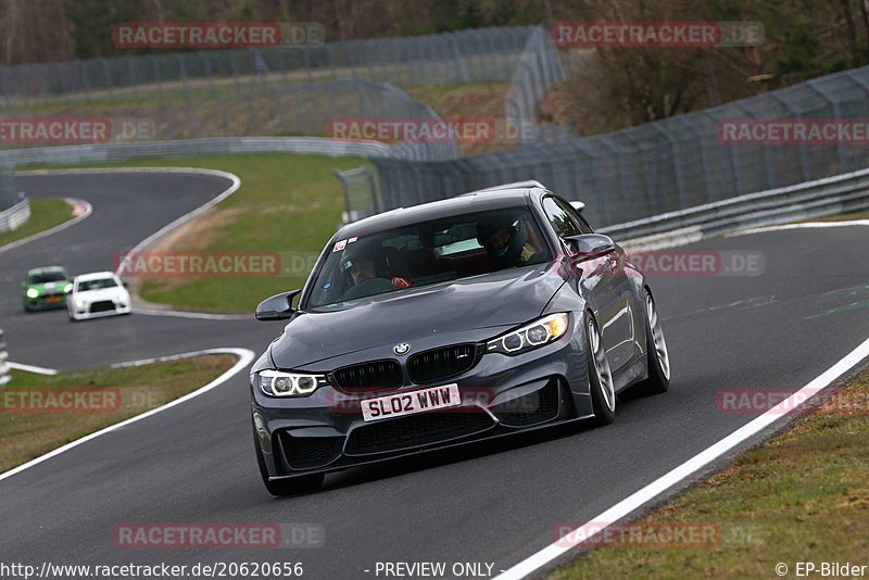
{"label": "thick white edge line beside the grass verge at bottom right", "polygon": [[524,578],[543,566],[546,566],[569,550],[582,546],[582,544],[612,524],[627,517],[631,512],[642,507],[689,476],[696,474],[700,469],[709,465],[715,459],[718,459],[740,443],[747,441],[777,420],[793,413],[797,407],[810,400],[811,395],[828,388],[839,377],[859,364],[867,356],[869,356],[869,339],[786,400],[567,534],[568,538],[577,538],[578,541],[572,543],[569,541],[556,541],[508,570],[505,570],[498,576],[495,580]]}

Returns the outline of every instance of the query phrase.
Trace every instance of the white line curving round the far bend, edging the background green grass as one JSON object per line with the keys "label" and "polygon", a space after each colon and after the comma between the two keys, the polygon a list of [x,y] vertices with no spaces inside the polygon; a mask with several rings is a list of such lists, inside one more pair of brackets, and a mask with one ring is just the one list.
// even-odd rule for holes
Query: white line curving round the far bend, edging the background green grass
{"label": "white line curving round the far bend, edging the background green grass", "polygon": [[[231,185],[229,188],[224,190],[221,194],[216,198],[213,198],[205,202],[204,204],[200,205],[196,210],[188,212],[180,216],[179,218],[175,219],[171,224],[162,227],[154,234],[148,236],[146,239],[140,241],[136,247],[130,250],[128,253],[136,254],[142,252],[146,248],[154,243],[159,238],[167,235],[169,231],[182,226],[190,219],[197,217],[205,210],[221,203],[226,198],[238,191],[241,187],[241,179],[229,172],[222,172],[218,169],[204,169],[199,167],[89,167],[89,168],[81,168],[81,169],[36,169],[32,172],[21,172],[22,175],[58,175],[58,174],[103,174],[103,173],[121,173],[121,174],[129,174],[129,173],[180,173],[180,174],[193,174],[193,175],[210,175],[213,177],[223,177],[224,179],[228,179]],[[72,225],[72,224],[70,224]],[[2,250],[0,250],[2,251]],[[115,274],[118,277],[123,277],[124,269],[127,266],[125,262],[118,266]],[[202,318],[206,320],[231,320],[236,318],[250,318],[248,315],[238,315],[238,314],[210,314],[210,313],[200,313],[200,312],[186,312],[186,311],[174,311],[174,310],[163,310],[163,308],[140,308],[135,307],[133,310],[136,314],[144,314],[148,316],[176,316],[180,318]]]}

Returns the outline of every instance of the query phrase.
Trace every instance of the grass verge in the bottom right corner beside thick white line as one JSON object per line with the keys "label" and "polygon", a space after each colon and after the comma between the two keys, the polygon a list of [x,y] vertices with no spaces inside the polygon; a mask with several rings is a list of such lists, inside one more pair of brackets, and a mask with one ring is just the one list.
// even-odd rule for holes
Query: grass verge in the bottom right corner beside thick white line
{"label": "grass verge in the bottom right corner beside thick white line", "polygon": [[[599,547],[553,573],[572,578],[777,578],[778,563],[869,564],[869,371],[785,433],[641,520],[714,522],[707,547]],[[860,402],[861,401],[861,402]]]}

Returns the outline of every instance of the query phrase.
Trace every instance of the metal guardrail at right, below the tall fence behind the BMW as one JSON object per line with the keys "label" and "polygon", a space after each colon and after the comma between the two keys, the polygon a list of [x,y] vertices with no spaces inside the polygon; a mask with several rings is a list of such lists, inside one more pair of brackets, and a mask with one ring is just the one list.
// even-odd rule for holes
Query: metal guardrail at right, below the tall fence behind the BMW
{"label": "metal guardrail at right, below the tall fence behind the BMW", "polygon": [[738,229],[869,209],[869,169],[601,228],[629,249],[681,245]]}

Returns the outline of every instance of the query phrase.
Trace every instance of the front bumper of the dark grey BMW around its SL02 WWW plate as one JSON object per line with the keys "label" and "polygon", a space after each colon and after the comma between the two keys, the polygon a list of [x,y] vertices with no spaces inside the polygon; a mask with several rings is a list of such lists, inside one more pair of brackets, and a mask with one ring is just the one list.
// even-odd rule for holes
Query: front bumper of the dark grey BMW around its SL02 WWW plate
{"label": "front bumper of the dark grey BMW around its SL02 WWW plate", "polygon": [[[277,399],[251,384],[256,439],[272,478],[365,465],[592,416],[584,342],[565,337],[519,356],[483,355],[443,381],[366,395],[322,387]],[[456,383],[462,405],[366,423],[360,402]]]}

